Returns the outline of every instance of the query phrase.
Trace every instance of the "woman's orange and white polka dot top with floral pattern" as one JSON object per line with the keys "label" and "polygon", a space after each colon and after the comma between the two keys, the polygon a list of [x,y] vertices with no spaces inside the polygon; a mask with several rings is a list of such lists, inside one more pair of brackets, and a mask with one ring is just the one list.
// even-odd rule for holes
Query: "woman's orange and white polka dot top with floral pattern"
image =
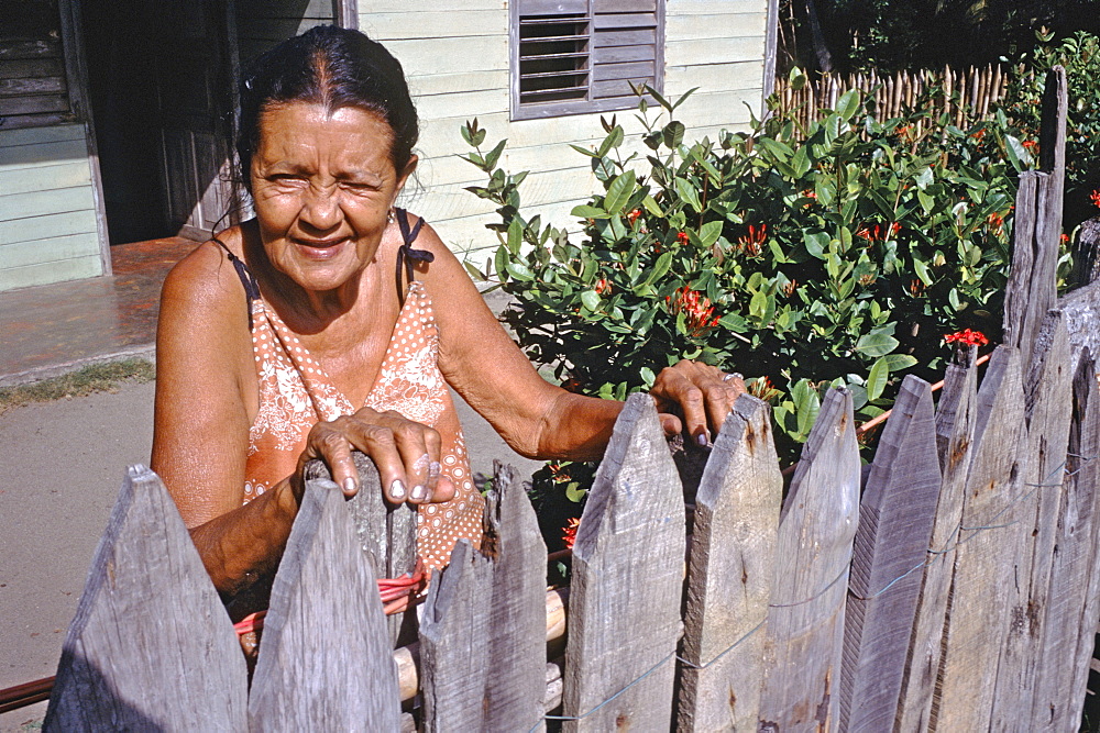
{"label": "woman's orange and white polka dot top with floral pattern", "polygon": [[[356,410],[262,298],[252,301],[252,320],[260,411],[249,433],[245,503],[295,469],[314,424]],[[431,300],[424,284],[413,281],[364,406],[395,410],[435,427],[442,437],[441,470],[457,492],[450,501],[419,507],[417,552],[430,568],[450,562],[459,538],[480,542],[484,507],[470,476],[462,429],[437,365],[438,354],[439,332]]]}

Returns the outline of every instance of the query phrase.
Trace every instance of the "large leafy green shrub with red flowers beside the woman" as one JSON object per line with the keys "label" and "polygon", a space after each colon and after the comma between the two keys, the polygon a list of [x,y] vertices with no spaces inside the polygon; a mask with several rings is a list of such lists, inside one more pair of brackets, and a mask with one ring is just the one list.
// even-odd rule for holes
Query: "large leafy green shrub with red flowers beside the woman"
{"label": "large leafy green shrub with red flowers beside the woman", "polygon": [[[869,419],[906,370],[934,377],[944,334],[998,337],[1015,176],[1031,162],[1003,114],[879,121],[851,92],[805,130],[770,116],[689,143],[686,95],[649,91],[645,157],[624,152],[614,118],[596,149],[574,146],[604,190],[573,209],[572,234],[526,218],[526,174],[497,167],[505,143],[483,153],[485,130],[463,130],[488,175],[470,190],[502,218],[494,262],[470,269],[516,298],[504,320],[566,388],[623,399],[681,358],[736,369],[772,402],[791,459],[831,385]],[[544,485],[579,498],[584,470],[556,470],[569,480],[548,469]]]}

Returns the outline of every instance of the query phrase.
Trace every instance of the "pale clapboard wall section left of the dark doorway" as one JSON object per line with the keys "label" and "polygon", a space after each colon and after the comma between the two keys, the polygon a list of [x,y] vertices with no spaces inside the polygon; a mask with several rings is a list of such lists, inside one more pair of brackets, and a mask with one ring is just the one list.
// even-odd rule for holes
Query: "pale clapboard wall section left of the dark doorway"
{"label": "pale clapboard wall section left of the dark doorway", "polygon": [[102,274],[84,125],[0,130],[0,290]]}

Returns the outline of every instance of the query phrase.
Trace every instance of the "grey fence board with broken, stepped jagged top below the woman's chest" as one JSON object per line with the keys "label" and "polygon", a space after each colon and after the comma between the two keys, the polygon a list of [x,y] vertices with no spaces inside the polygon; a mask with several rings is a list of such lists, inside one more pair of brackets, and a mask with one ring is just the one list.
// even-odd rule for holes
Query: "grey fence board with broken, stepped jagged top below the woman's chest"
{"label": "grey fence board with broken, stepped jagged top below the woman's chest", "polygon": [[465,540],[420,625],[425,731],[530,731],[546,712],[547,548],[510,466],[486,497],[481,551]]}

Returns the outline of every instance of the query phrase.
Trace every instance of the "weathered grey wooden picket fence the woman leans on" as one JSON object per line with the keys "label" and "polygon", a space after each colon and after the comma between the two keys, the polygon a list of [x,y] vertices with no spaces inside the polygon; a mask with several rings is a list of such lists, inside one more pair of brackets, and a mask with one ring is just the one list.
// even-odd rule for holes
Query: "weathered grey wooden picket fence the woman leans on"
{"label": "weathered grey wooden picket fence the woman leans on", "polygon": [[935,407],[906,377],[866,469],[831,390],[785,496],[768,407],[743,396],[690,511],[636,395],[569,588],[547,590],[498,468],[481,547],[455,547],[411,645],[394,649],[375,587],[408,562],[408,510],[382,506],[369,464],[352,502],[308,482],[251,685],[172,499],[132,467],[46,730],[1076,731],[1100,617],[1100,285],[1056,299],[1060,147],[1021,181],[980,384],[974,347]]}

